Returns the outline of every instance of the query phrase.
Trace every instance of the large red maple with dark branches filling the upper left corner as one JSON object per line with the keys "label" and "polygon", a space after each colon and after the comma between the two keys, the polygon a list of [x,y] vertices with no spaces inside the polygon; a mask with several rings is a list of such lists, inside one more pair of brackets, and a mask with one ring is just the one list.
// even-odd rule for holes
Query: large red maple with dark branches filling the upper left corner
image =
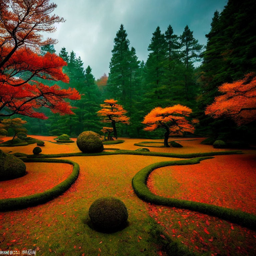
{"label": "large red maple with dark branches filling the upper left corner", "polygon": [[39,47],[54,44],[43,40],[42,32],[54,32],[55,23],[63,18],[50,15],[56,4],[50,0],[0,1],[0,117],[21,114],[46,119],[37,110],[48,107],[54,113],[73,114],[64,99],[78,100],[75,89],[49,87],[38,78],[69,82],[62,72],[67,63],[56,54],[39,56]]}

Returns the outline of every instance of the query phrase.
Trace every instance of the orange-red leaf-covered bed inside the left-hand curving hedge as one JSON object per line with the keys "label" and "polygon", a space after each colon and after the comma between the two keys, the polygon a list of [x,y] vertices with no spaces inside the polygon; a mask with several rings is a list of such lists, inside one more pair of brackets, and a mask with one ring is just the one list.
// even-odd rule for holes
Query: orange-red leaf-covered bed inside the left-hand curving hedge
{"label": "orange-red leaf-covered bed inside the left-hand curving hedge", "polygon": [[26,163],[27,174],[0,182],[0,199],[44,192],[64,181],[73,166],[63,163]]}

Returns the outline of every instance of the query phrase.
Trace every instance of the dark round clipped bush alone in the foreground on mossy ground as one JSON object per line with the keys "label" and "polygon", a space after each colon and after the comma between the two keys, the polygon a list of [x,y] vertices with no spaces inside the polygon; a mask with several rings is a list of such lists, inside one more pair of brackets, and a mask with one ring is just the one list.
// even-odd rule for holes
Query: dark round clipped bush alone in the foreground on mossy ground
{"label": "dark round clipped bush alone in the foreground on mossy ground", "polygon": [[96,229],[112,233],[127,224],[128,212],[125,204],[115,197],[101,197],[89,208],[89,216]]}

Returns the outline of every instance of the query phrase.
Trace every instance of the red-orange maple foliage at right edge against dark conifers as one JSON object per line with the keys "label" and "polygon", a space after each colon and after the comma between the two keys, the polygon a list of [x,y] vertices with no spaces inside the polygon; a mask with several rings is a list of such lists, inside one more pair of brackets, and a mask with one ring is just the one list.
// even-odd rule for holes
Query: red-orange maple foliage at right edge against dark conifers
{"label": "red-orange maple foliage at right edge against dark conifers", "polygon": [[206,115],[214,118],[229,117],[237,125],[256,120],[256,73],[245,75],[244,79],[224,83],[219,87],[223,95],[215,97],[207,106]]}

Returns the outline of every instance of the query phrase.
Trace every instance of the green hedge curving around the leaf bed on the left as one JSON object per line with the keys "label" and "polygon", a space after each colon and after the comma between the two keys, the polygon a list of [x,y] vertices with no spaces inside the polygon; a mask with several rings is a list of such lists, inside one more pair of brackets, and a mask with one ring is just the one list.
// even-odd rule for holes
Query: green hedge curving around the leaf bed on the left
{"label": "green hedge curving around the leaf bed on the left", "polygon": [[15,198],[6,198],[0,200],[0,212],[3,211],[10,211],[10,210],[17,210],[22,208],[27,208],[30,206],[36,206],[39,204],[46,203],[53,198],[61,195],[70,186],[75,182],[79,174],[79,165],[70,160],[64,159],[41,159],[41,158],[20,158],[23,162],[44,162],[44,163],[65,163],[73,165],[73,171],[68,176],[68,178],[62,181],[57,186],[48,189],[44,192],[33,194],[30,196],[23,196],[23,197],[15,197]]}

